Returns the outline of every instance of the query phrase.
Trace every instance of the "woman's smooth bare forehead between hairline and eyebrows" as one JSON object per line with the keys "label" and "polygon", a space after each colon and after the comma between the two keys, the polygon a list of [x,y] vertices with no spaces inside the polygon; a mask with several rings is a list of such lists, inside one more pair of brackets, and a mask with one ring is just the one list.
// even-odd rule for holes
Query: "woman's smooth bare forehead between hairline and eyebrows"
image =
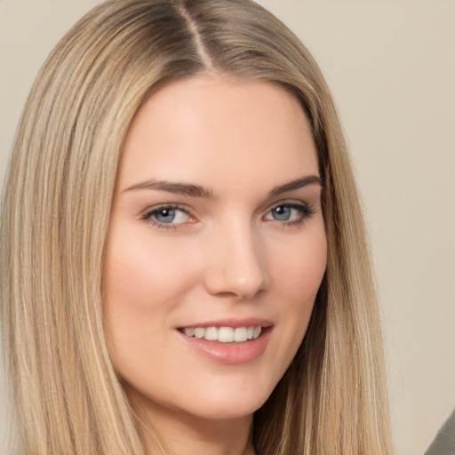
{"label": "woman's smooth bare forehead between hairline and eyebrows", "polygon": [[217,186],[267,178],[273,186],[307,173],[318,174],[317,156],[295,97],[266,82],[196,76],[165,85],[139,109],[118,185],[159,178]]}

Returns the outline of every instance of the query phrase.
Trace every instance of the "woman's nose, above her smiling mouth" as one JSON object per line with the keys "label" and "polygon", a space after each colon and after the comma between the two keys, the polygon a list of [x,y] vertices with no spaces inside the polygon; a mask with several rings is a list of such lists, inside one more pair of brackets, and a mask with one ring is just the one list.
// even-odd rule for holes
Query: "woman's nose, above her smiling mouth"
{"label": "woman's nose, above her smiling mouth", "polygon": [[208,247],[204,281],[212,295],[251,299],[267,291],[270,278],[265,250],[251,226],[224,228]]}

